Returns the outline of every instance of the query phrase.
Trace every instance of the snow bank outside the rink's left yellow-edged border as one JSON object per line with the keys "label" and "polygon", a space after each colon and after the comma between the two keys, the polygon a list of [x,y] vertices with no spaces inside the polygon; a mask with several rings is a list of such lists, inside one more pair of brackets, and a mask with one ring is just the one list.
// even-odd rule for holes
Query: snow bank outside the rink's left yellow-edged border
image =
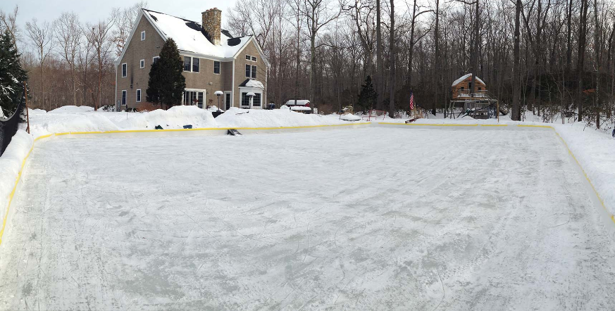
{"label": "snow bank outside the rink's left yellow-edged border", "polygon": [[30,134],[18,130],[0,157],[0,220],[4,219],[8,196],[13,191],[23,159],[30,152],[33,142]]}

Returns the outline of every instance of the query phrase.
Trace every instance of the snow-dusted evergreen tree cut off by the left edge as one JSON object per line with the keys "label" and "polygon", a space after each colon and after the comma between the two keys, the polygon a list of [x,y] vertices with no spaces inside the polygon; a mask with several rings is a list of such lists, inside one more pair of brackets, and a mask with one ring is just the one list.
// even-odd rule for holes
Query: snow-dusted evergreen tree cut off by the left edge
{"label": "snow-dusted evergreen tree cut off by the left edge", "polygon": [[6,30],[0,36],[0,108],[10,117],[21,99],[27,73],[21,68],[17,47]]}

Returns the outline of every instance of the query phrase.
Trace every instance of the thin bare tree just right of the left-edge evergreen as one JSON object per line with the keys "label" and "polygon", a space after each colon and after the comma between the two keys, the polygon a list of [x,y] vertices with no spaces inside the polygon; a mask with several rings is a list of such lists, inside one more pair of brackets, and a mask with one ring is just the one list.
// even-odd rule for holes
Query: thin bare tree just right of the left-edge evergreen
{"label": "thin bare tree just right of the left-edge evergreen", "polygon": [[[40,72],[41,72],[41,81],[40,81],[40,105],[44,107],[45,102],[45,93],[44,93],[44,63],[51,53],[51,49],[54,44],[54,36],[53,36],[53,28],[49,23],[43,22],[38,23],[36,18],[33,18],[30,22],[25,23],[25,30],[27,31],[27,37],[30,38],[32,46],[34,46],[35,51],[38,56]],[[49,105],[49,110],[51,110],[51,104]]]}

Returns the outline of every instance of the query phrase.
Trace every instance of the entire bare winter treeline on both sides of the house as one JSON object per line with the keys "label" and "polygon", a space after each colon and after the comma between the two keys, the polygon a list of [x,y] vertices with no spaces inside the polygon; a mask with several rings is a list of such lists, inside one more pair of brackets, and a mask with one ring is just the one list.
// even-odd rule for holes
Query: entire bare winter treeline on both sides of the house
{"label": "entire bare winter treeline on both sides of the house", "polygon": [[[356,107],[369,75],[378,93],[375,109],[407,110],[412,90],[419,106],[442,110],[452,82],[473,72],[513,118],[522,118],[522,110],[544,120],[578,113],[600,126],[614,109],[614,4],[237,0],[223,23],[237,36],[254,34],[263,46],[271,63],[268,99],[278,105],[299,98],[324,112]],[[113,105],[112,61],[145,5],[113,9],[94,24],[64,13],[25,29],[16,27],[17,11],[1,12],[1,27],[27,46],[32,103]]]}

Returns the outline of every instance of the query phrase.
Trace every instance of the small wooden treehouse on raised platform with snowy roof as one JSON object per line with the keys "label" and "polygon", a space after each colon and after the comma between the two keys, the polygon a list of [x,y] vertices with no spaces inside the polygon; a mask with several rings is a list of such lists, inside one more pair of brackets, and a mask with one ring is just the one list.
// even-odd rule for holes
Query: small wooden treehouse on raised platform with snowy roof
{"label": "small wooden treehouse on raised platform with snowy roof", "polygon": [[468,73],[455,80],[451,86],[451,106],[471,111],[471,116],[477,119],[489,118],[489,106],[496,106],[497,100],[487,94],[487,85],[476,77],[476,90],[471,93],[472,74]]}

